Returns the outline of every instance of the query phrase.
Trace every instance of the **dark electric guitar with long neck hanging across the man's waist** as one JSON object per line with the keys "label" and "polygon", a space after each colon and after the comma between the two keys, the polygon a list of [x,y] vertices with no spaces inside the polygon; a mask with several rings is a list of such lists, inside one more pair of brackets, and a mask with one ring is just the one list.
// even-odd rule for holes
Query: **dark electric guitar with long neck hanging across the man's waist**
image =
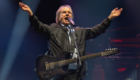
{"label": "dark electric guitar with long neck hanging across the man's waist", "polygon": [[[119,52],[117,48],[106,49],[104,52],[81,56],[81,61],[100,56],[113,55]],[[68,73],[63,70],[63,67],[76,61],[76,58],[65,59],[64,55],[59,55],[57,57],[40,55],[36,60],[36,73],[40,80],[49,80],[56,75],[66,75]]]}

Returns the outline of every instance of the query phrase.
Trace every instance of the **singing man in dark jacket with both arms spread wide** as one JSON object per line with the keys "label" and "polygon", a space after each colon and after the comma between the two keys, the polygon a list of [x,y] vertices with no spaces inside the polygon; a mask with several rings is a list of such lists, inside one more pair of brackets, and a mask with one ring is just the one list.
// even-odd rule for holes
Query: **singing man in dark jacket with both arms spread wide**
{"label": "singing man in dark jacket with both arms spread wide", "polygon": [[[61,6],[58,11],[56,12],[56,23],[46,25],[40,22],[37,17],[33,14],[32,10],[29,6],[19,2],[19,6],[23,11],[26,11],[29,15],[29,20],[31,25],[36,32],[43,34],[47,37],[48,41],[50,42],[50,51],[52,56],[56,57],[63,52],[71,52],[71,57],[76,57],[76,50],[74,45],[74,40],[72,34],[69,32],[69,28],[71,23],[69,22],[68,18],[73,19],[73,12],[69,5]],[[122,8],[118,9],[115,8],[112,10],[111,14],[106,18],[101,24],[92,27],[91,29],[86,28],[74,28],[74,35],[76,37],[76,42],[78,46],[78,50],[80,56],[85,55],[85,41],[88,39],[92,39],[104,33],[105,30],[109,27],[111,21],[118,17],[121,12]],[[70,34],[69,34],[70,33]],[[74,67],[72,67],[74,66]],[[60,76],[60,78],[54,80],[77,80],[76,74],[76,63],[70,64],[68,70],[72,71],[72,74],[67,76]],[[83,80],[85,77],[85,69],[86,69],[86,61],[82,61],[82,65],[79,67],[79,80]]]}

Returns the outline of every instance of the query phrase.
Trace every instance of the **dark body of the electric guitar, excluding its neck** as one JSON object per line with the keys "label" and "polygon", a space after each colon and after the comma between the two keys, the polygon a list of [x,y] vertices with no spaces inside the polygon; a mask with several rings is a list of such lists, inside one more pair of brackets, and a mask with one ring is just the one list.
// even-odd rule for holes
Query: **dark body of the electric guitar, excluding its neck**
{"label": "dark body of the electric guitar, excluding its neck", "polygon": [[57,62],[67,59],[64,55],[59,55],[57,57],[50,57],[47,55],[40,55],[36,60],[36,73],[40,80],[49,80],[57,75],[66,75],[68,65],[63,67],[56,67],[54,69],[46,70],[45,63]]}

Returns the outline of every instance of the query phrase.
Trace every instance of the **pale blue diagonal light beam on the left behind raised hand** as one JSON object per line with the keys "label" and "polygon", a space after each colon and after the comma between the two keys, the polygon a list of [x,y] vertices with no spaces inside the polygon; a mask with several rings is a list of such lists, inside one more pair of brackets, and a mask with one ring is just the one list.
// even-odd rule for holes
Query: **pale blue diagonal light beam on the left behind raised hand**
{"label": "pale blue diagonal light beam on the left behind raised hand", "polygon": [[[35,12],[40,0],[22,0],[22,3],[30,6],[33,12]],[[17,17],[14,23],[14,28],[11,33],[11,39],[6,51],[6,55],[2,64],[0,72],[0,80],[6,80],[10,69],[15,61],[20,45],[24,39],[24,36],[29,27],[28,14],[22,11],[20,8],[17,13]]]}

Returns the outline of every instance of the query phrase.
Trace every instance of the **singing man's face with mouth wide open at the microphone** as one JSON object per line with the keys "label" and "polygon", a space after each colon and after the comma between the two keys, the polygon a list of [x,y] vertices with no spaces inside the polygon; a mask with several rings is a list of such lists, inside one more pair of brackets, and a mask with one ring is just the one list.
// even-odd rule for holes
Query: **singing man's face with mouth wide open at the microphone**
{"label": "singing man's face with mouth wide open at the microphone", "polygon": [[70,8],[68,7],[64,7],[61,9],[60,12],[60,17],[59,17],[59,21],[60,23],[64,24],[64,25],[69,25],[70,22],[68,21],[68,18],[72,18],[72,11]]}

